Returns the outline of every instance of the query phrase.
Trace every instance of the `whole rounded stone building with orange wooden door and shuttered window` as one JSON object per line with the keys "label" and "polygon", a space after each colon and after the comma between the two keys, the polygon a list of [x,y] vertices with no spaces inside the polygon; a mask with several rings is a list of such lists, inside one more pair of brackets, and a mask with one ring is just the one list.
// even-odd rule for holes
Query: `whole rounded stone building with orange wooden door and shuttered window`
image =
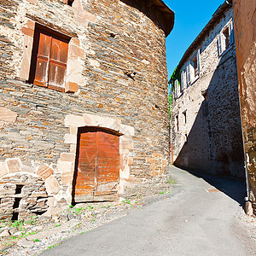
{"label": "whole rounded stone building with orange wooden door and shuttered window", "polygon": [[0,218],[164,186],[172,10],[2,0],[0,12]]}

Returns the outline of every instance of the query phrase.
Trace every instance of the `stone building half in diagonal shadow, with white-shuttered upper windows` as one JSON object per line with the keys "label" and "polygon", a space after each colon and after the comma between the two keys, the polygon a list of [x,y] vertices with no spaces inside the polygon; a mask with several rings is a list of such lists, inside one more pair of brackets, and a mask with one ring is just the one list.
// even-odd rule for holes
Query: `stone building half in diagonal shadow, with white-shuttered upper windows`
{"label": "stone building half in diagonal shadow, with white-shuttered upper windows", "polygon": [[244,178],[233,9],[224,2],[171,81],[174,164]]}

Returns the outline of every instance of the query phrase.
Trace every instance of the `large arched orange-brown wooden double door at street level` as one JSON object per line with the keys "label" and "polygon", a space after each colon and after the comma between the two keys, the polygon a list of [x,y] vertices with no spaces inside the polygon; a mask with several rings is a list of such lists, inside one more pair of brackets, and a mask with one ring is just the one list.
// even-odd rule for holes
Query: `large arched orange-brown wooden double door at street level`
{"label": "large arched orange-brown wooden double door at street level", "polygon": [[102,128],[79,133],[75,201],[113,201],[119,183],[119,135]]}

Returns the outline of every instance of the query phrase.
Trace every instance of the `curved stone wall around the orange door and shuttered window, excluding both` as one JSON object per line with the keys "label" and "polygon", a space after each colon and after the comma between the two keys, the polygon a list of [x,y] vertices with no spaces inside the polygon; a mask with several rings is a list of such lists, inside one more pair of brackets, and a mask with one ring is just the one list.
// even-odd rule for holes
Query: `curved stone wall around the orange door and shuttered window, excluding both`
{"label": "curved stone wall around the orange door and shuttered window, excluding both", "polygon": [[[86,125],[123,133],[119,195],[130,195],[133,187],[151,183],[153,177],[159,183],[167,173],[165,32],[129,1],[66,2],[0,3],[2,203],[9,198],[4,184],[15,193],[19,178],[11,173],[16,172],[20,180],[26,177],[23,190],[32,183],[45,187],[52,196],[43,200],[48,207],[70,204],[77,131]],[[37,24],[71,38],[65,92],[27,81]],[[10,161],[15,165],[10,167]],[[44,169],[50,170],[49,177],[40,174]],[[32,195],[22,193],[31,200]],[[41,197],[32,196],[35,207]],[[9,218],[9,213],[0,216]]]}

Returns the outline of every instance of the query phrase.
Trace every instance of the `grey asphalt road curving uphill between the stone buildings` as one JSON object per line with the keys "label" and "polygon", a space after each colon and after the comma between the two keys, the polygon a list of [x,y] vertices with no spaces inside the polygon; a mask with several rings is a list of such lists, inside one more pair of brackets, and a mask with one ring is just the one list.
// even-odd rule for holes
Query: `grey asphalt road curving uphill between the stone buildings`
{"label": "grey asphalt road curving uphill between the stone buildings", "polygon": [[170,172],[176,184],[160,201],[42,255],[256,255],[255,244],[237,219],[244,183],[176,167]]}

